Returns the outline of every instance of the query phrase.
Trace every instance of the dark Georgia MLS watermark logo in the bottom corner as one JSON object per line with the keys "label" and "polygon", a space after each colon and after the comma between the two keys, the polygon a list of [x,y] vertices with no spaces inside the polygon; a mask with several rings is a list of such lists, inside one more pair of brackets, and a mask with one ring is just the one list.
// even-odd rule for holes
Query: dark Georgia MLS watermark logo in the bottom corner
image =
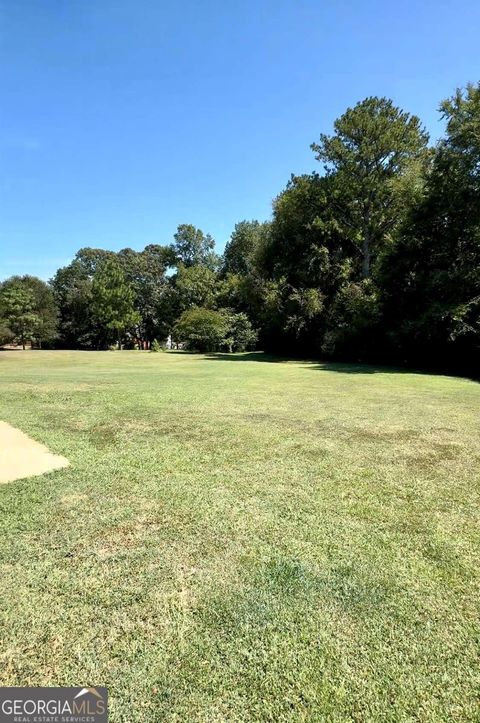
{"label": "dark Georgia MLS watermark logo in the bottom corner", "polygon": [[106,688],[0,688],[0,723],[108,723]]}

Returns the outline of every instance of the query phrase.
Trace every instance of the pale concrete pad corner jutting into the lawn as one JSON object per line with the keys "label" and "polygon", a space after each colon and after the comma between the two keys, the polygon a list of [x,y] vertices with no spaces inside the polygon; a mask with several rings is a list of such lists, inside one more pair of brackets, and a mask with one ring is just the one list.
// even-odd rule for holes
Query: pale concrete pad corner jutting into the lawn
{"label": "pale concrete pad corner jutting into the lawn", "polygon": [[19,429],[0,421],[0,484],[68,467],[68,459],[52,454]]}

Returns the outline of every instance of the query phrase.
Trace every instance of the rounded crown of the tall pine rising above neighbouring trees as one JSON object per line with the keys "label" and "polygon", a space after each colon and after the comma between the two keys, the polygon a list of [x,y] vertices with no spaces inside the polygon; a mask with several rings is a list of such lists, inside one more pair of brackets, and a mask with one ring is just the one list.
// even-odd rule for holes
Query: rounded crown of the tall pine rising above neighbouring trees
{"label": "rounded crown of the tall pine rising above neighbouring trees", "polygon": [[396,182],[425,153],[428,136],[416,116],[387,98],[366,98],[349,108],[312,144],[332,177],[331,203],[343,235],[361,260],[363,278],[387,245],[401,217]]}

